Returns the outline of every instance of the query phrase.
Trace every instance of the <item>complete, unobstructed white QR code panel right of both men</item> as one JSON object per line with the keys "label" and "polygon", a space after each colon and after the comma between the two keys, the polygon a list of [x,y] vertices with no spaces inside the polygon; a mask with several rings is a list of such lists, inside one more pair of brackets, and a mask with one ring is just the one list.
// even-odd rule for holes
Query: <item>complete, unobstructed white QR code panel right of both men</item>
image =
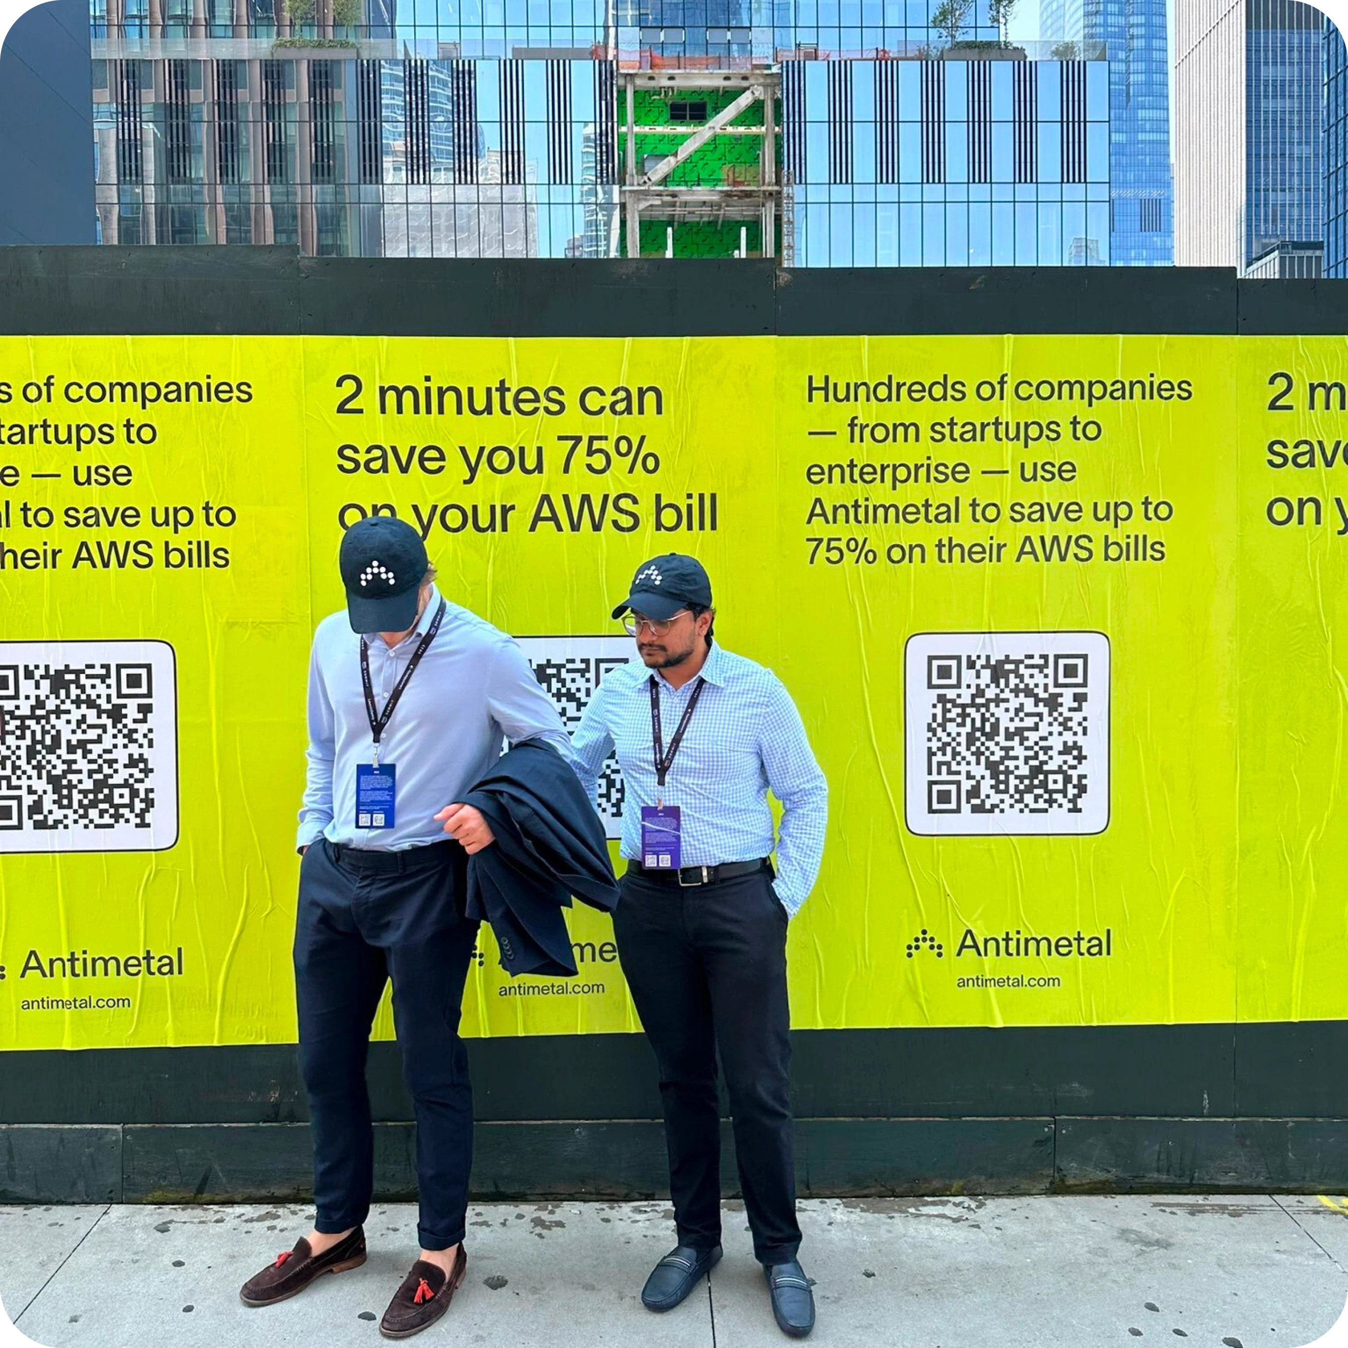
{"label": "complete, unobstructed white QR code panel right of both men", "polygon": [[1103,632],[910,636],[903,724],[913,833],[1103,833],[1109,824]]}

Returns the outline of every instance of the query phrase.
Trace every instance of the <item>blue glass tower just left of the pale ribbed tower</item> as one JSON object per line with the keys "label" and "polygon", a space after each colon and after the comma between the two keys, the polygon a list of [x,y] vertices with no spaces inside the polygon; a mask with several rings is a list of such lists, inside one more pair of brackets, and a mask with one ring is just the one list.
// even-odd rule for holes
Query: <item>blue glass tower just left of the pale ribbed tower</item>
{"label": "blue glass tower just left of the pale ribbed tower", "polygon": [[[1043,0],[1043,39],[1058,55],[1109,61],[1109,262],[1174,262],[1166,0]],[[1103,53],[1101,53],[1103,49]]]}

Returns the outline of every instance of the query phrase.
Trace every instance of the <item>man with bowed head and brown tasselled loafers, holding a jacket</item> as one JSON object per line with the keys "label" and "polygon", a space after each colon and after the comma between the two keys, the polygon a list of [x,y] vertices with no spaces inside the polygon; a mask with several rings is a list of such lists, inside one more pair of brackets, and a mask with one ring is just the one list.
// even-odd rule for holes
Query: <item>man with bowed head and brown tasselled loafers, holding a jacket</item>
{"label": "man with bowed head and brown tasselled loafers, holding a jacket", "polygon": [[495,838],[460,801],[503,741],[541,739],[568,759],[570,743],[515,642],[439,594],[408,524],[353,524],[341,574],[346,612],[318,624],[309,665],[297,837],[295,1000],[317,1217],[241,1297],[271,1305],[365,1262],[373,1189],[365,1055],[391,980],[417,1112],[421,1258],[380,1328],[407,1337],[445,1313],[466,1268],[473,1097],[458,1016],[477,922],[464,911],[465,875],[468,856]]}

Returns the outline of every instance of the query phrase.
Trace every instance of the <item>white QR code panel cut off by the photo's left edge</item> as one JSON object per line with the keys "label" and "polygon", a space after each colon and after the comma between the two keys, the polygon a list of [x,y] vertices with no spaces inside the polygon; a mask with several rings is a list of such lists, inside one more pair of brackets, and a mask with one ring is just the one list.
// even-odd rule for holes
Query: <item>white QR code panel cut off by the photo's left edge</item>
{"label": "white QR code panel cut off by the photo's left edge", "polygon": [[0,852],[178,841],[166,642],[0,642]]}

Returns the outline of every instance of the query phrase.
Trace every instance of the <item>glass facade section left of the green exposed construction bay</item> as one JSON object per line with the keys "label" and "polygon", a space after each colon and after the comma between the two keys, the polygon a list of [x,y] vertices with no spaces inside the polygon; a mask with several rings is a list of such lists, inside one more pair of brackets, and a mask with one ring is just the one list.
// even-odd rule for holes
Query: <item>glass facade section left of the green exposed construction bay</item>
{"label": "glass facade section left of the green exposed construction bay", "polygon": [[[585,247],[604,195],[593,189],[613,174],[611,62],[558,47],[572,28],[480,28],[465,43],[461,26],[442,40],[414,23],[400,36],[391,4],[344,24],[342,0],[326,3],[232,0],[210,13],[197,0],[193,16],[168,0],[96,16],[105,243],[450,257]],[[553,44],[523,46],[534,39]]]}

